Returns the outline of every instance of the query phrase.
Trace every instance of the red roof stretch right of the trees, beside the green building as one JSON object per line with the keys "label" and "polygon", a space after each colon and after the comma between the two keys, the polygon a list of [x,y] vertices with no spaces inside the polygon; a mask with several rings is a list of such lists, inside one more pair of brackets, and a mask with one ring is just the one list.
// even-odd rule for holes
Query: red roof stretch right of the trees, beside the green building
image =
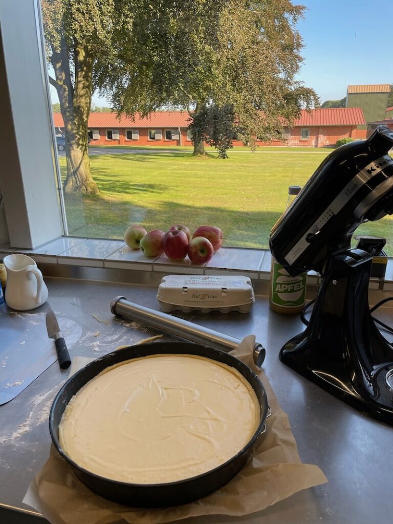
{"label": "red roof stretch right of the trees, beside the green building", "polygon": [[293,126],[359,126],[365,125],[361,107],[302,110]]}

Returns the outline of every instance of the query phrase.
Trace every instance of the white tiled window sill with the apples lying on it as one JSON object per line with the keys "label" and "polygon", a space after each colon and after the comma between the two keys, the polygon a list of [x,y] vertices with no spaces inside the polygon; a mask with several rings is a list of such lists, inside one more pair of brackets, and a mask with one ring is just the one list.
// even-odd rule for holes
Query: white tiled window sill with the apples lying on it
{"label": "white tiled window sill with the apples lying on it", "polygon": [[[12,253],[24,253],[33,258],[38,265],[65,264],[186,275],[241,273],[253,280],[268,280],[271,263],[270,252],[265,249],[222,247],[207,264],[196,265],[188,258],[173,262],[165,254],[146,258],[139,250],[130,249],[122,240],[79,237],[60,237],[36,249],[15,249],[8,244],[0,245],[0,260]],[[319,285],[319,280],[317,273],[309,272],[310,285]],[[388,260],[385,279],[373,278],[369,287],[393,291],[393,259]]]}

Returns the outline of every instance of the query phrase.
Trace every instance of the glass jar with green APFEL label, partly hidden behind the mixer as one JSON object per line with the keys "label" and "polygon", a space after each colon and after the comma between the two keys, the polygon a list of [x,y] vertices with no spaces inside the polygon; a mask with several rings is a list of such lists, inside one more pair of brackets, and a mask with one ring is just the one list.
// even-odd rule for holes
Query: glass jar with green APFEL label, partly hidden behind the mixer
{"label": "glass jar with green APFEL label, partly hidden behind the mixer", "polygon": [[[286,211],[292,205],[301,188],[291,185],[288,190]],[[281,264],[271,259],[269,305],[270,309],[283,315],[298,314],[304,308],[307,273],[291,277]]]}

